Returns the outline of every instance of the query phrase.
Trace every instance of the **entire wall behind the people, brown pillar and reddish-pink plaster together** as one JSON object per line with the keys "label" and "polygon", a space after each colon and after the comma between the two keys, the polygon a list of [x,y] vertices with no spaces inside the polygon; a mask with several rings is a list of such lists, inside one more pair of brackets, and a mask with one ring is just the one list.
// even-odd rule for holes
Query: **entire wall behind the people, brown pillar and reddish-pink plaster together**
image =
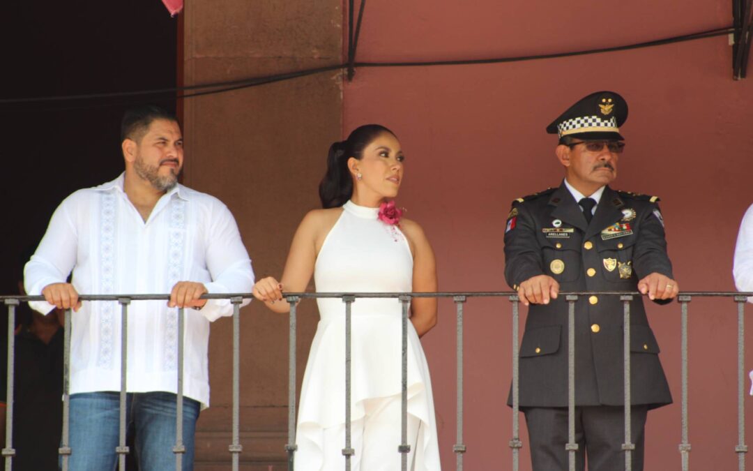
{"label": "entire wall behind the people, brown pillar and reddish-pink plaster together", "polygon": [[[217,8],[207,0],[190,2],[185,83],[340,60],[340,3],[235,0]],[[358,60],[504,57],[628,44],[726,26],[729,4],[367,2]],[[736,229],[753,202],[753,82],[730,76],[731,48],[722,37],[526,63],[358,69],[342,91],[332,73],[192,99],[185,106],[186,183],[230,206],[258,276],[279,274],[295,226],[316,206],[329,143],[359,124],[386,124],[407,154],[399,203],[434,244],[440,288],[508,289],[502,234],[509,204],[562,178],[556,138],[544,127],[581,96],[616,90],[631,111],[614,188],[662,197],[682,289],[731,290]],[[508,469],[511,414],[502,404],[511,376],[510,309],[506,301],[472,300],[466,312],[466,464]],[[733,469],[736,462],[734,313],[730,301],[691,303],[691,463],[698,469]],[[649,315],[678,402],[679,308],[651,306]],[[316,317],[309,304],[299,373]],[[453,319],[452,304],[444,302],[439,326],[423,340],[447,469],[454,463]],[[285,440],[287,319],[254,305],[242,322],[243,459],[267,469],[264,460],[282,459]],[[202,414],[197,444],[200,460],[226,460],[230,322],[212,329],[212,408]],[[652,412],[646,469],[677,466],[679,442],[679,404]],[[529,469],[526,446],[522,463]]]}

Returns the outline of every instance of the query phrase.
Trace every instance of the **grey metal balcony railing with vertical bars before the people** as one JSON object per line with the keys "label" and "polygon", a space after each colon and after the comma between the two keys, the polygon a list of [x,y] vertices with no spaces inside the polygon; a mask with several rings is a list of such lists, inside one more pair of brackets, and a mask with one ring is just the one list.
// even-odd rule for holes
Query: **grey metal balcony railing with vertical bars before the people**
{"label": "grey metal balcony railing with vertical bars before the people", "polygon": [[[639,292],[561,292],[560,297],[564,297],[569,304],[568,309],[568,409],[569,409],[569,440],[566,444],[566,450],[569,453],[569,469],[575,470],[575,453],[578,451],[578,444],[575,442],[575,301],[581,296],[606,295],[619,296],[623,301],[623,325],[630,326],[630,301],[633,298],[642,296]],[[753,296],[753,292],[681,292],[677,301],[681,305],[681,443],[679,451],[681,457],[681,469],[688,471],[690,469],[689,457],[691,444],[688,441],[688,424],[687,424],[687,313],[688,304],[694,298],[730,298],[737,304],[737,418],[738,418],[738,443],[734,448],[738,456],[738,469],[745,469],[745,454],[748,446],[745,445],[745,302],[748,296]],[[239,469],[239,454],[242,452],[242,445],[239,443],[239,341],[240,341],[240,304],[244,298],[251,298],[248,293],[228,294],[228,295],[203,295],[207,299],[229,299],[233,304],[233,427],[232,442],[228,446],[230,452],[232,469]],[[81,295],[82,301],[117,301],[121,307],[121,338],[120,338],[120,443],[116,448],[119,456],[119,469],[125,470],[126,455],[130,452],[126,446],[126,365],[127,365],[127,323],[128,307],[132,301],[145,300],[163,300],[167,301],[169,295]],[[353,302],[358,298],[395,298],[402,304],[402,373],[401,373],[401,445],[396,450],[401,454],[401,466],[404,471],[407,470],[407,454],[410,451],[410,445],[407,444],[407,325],[408,310],[412,298],[451,298],[456,304],[456,444],[453,445],[453,451],[456,454],[456,470],[463,469],[463,456],[466,451],[463,440],[463,318],[464,306],[468,298],[506,298],[511,303],[512,310],[512,329],[511,329],[511,347],[512,347],[512,437],[509,447],[512,450],[512,469],[518,471],[520,466],[520,422],[519,422],[519,310],[520,300],[514,292],[432,292],[432,293],[400,293],[400,292],[369,292],[369,293],[345,293],[345,292],[300,292],[285,293],[285,299],[291,304],[289,315],[289,350],[288,350],[288,443],[285,445],[285,451],[288,455],[288,469],[294,469],[295,452],[296,452],[296,337],[297,337],[297,302],[304,298],[340,298],[343,300],[345,310],[346,326],[346,376],[343,383],[346,392],[345,413],[346,413],[346,441],[343,448],[343,459],[345,460],[346,469],[350,469],[350,458],[354,454],[351,448],[351,429],[350,429],[350,408],[351,408],[351,307]],[[5,424],[6,442],[5,448],[2,449],[2,455],[5,457],[5,469],[11,471],[15,451],[13,448],[13,394],[14,394],[14,330],[15,330],[15,309],[21,302],[41,301],[41,296],[0,296],[0,300],[5,302],[8,307],[8,403],[7,418]],[[63,356],[63,414],[62,414],[62,440],[59,448],[59,454],[62,457],[62,469],[68,471],[68,458],[72,450],[69,447],[69,352],[70,352],[70,334],[71,334],[71,310],[66,311],[65,316],[65,341]],[[184,335],[184,317],[183,310],[178,310],[178,374],[175,378],[177,382],[177,414],[176,414],[176,436],[175,446],[172,451],[175,453],[175,469],[180,471],[182,464],[182,454],[185,451],[182,437],[182,406],[183,406],[183,335]],[[625,452],[625,469],[632,469],[632,452],[635,444],[630,442],[631,423],[630,423],[630,329],[623,329],[623,381],[624,381],[624,421],[625,421],[625,439],[622,449]]]}

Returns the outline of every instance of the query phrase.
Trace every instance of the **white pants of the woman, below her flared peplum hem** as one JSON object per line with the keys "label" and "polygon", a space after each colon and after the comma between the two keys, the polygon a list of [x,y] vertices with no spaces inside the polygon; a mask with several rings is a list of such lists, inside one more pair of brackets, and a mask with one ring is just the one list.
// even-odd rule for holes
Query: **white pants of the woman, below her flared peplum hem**
{"label": "white pants of the woman, below her flared peplum hem", "polygon": [[[367,399],[366,415],[352,421],[350,457],[351,471],[400,471],[401,396]],[[408,414],[408,469],[413,469],[417,445],[421,442],[421,421]],[[345,469],[345,424],[324,430],[324,463],[322,471]],[[422,448],[422,447],[421,447]],[[420,451],[419,451],[420,453]]]}

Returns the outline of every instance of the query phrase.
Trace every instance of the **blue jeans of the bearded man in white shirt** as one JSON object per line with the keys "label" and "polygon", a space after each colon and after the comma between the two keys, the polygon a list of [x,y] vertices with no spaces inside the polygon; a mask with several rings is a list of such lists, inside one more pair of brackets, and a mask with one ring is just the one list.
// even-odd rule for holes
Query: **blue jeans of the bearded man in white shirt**
{"label": "blue jeans of the bearded man in white shirt", "polygon": [[[136,430],[136,459],[140,471],[175,469],[172,447],[175,446],[176,397],[173,393],[162,392],[127,394],[126,430]],[[120,393],[73,394],[70,403],[69,470],[115,469],[115,448],[120,441]],[[194,430],[199,409],[199,402],[184,397],[183,471],[194,469]]]}

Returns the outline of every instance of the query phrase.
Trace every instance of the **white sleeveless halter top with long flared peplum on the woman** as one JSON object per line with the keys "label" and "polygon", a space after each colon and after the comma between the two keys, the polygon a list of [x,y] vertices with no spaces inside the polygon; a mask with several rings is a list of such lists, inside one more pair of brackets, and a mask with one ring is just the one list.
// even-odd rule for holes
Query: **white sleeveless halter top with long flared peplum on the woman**
{"label": "white sleeveless halter top with long flared peplum on the woman", "polygon": [[[316,259],[317,292],[411,291],[410,246],[399,228],[377,219],[377,212],[351,201],[343,205],[343,214]],[[322,469],[323,430],[345,424],[345,304],[340,298],[317,301],[321,320],[303,375],[298,411],[295,466],[303,471]],[[364,417],[367,399],[401,400],[402,307],[395,298],[358,298],[351,309],[351,418],[355,422]],[[420,421],[416,445],[422,447],[416,452],[414,469],[437,471],[440,462],[428,365],[410,321],[407,333],[407,408]]]}

